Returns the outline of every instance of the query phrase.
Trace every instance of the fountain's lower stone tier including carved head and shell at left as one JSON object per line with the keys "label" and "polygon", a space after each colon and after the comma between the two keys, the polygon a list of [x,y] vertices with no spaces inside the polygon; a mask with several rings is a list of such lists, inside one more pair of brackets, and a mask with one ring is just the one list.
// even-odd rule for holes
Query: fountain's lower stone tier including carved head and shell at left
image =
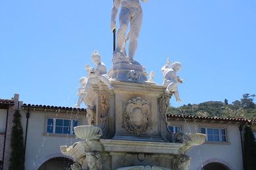
{"label": "fountain's lower stone tier including carved head and shell at left", "polygon": [[[95,170],[178,170],[177,163],[181,163],[183,167],[184,163],[190,163],[189,157],[181,154],[185,145],[100,139],[80,141],[70,147],[61,146],[60,150],[74,158],[72,170],[85,170],[88,167]],[[185,169],[188,170],[186,167]]]}

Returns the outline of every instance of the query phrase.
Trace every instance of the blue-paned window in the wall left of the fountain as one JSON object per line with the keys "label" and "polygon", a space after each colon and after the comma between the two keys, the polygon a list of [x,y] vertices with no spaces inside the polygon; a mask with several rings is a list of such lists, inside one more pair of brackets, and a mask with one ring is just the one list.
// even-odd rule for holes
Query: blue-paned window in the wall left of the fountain
{"label": "blue-paned window in the wall left of the fountain", "polygon": [[47,118],[47,133],[74,134],[75,126],[79,126],[79,120]]}

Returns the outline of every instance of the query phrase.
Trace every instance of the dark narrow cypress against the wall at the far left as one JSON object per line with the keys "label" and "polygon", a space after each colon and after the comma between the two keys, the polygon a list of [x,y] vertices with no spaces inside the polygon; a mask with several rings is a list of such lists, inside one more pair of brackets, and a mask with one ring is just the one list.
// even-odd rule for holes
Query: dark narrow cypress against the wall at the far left
{"label": "dark narrow cypress against the wall at the far left", "polygon": [[11,158],[9,170],[24,170],[24,140],[23,130],[20,122],[20,111],[16,110],[13,116],[13,126],[11,131]]}

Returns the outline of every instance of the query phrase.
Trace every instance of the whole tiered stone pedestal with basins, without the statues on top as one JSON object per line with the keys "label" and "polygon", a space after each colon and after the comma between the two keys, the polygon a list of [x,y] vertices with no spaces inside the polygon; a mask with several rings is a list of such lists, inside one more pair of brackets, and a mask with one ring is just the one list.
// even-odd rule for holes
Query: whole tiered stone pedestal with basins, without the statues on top
{"label": "whole tiered stone pedestal with basins, without the statues on top", "polygon": [[74,127],[83,141],[60,147],[72,170],[188,170],[186,152],[205,135],[167,131],[173,93],[148,81],[139,63],[116,63],[108,76],[111,86],[92,84],[84,94],[89,126]]}

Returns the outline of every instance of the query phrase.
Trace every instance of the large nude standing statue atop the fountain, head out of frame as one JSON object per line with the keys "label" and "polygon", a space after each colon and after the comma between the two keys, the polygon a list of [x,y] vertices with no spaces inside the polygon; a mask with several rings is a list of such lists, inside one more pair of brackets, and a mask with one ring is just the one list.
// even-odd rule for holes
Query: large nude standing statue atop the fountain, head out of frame
{"label": "large nude standing statue atop the fountain, head out of frame", "polygon": [[[141,0],[146,2],[147,0]],[[111,15],[111,31],[116,29],[116,16],[118,9],[121,5],[121,11],[119,14],[119,30],[117,31],[117,44],[116,50],[113,55],[112,61],[114,63],[120,61],[131,61],[135,56],[137,50],[137,41],[140,33],[140,28],[142,24],[142,8],[140,6],[139,0],[115,0],[114,7],[112,9]],[[127,27],[130,23],[130,31],[126,36]],[[126,55],[125,44],[126,41],[129,43],[129,57]]]}

